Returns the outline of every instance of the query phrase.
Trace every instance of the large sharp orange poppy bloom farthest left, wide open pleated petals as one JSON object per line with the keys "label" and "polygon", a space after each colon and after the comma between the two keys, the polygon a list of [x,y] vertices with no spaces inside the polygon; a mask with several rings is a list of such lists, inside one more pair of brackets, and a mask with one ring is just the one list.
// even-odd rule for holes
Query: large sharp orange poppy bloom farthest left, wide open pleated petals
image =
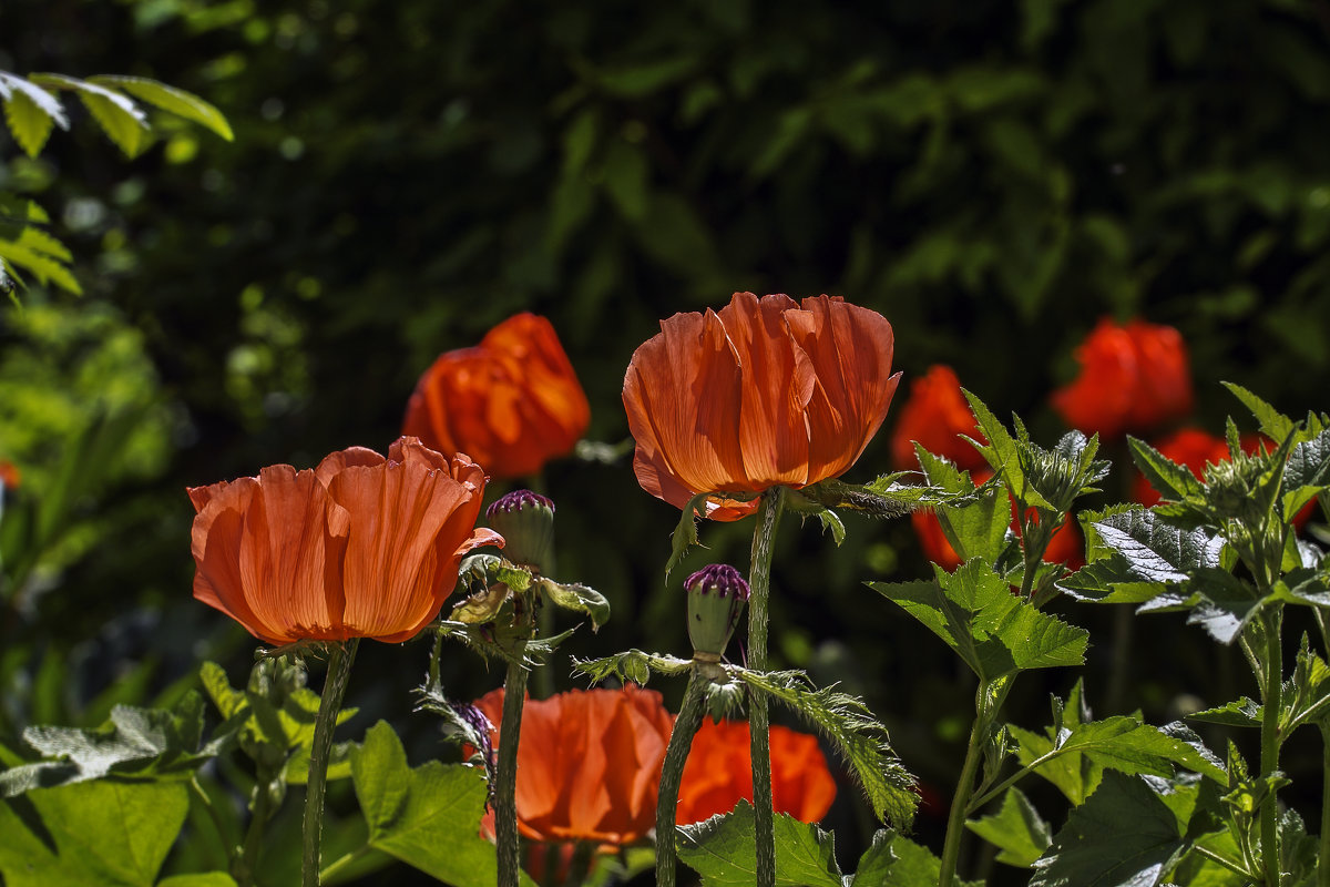
{"label": "large sharp orange poppy bloom farthest left, wide open pleated petals", "polygon": [[313,471],[193,487],[194,597],[269,644],[414,637],[458,580],[462,556],[501,545],[476,529],[485,477],[402,438],[384,459],[351,447]]}

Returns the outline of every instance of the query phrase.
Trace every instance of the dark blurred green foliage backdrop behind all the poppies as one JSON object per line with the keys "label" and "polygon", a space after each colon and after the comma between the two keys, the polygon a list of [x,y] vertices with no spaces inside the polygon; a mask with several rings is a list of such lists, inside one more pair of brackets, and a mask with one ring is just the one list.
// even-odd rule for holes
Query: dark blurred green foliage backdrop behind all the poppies
{"label": "dark blurred green foliage backdrop behind all the poppies", "polygon": [[[608,443],[633,348],[734,290],[876,309],[902,398],[946,362],[1044,443],[1047,394],[1105,314],[1182,331],[1212,431],[1241,412],[1221,379],[1327,407],[1325,0],[5,0],[0,35],[0,69],[153,77],[235,130],[154,118],[132,161],[77,108],[37,160],[0,136],[0,190],[47,209],[84,289],[0,315],[0,459],[23,472],[0,551],[25,570],[0,588],[0,738],[169,698],[203,656],[239,681],[251,640],[190,600],[184,488],[386,448],[434,356],[520,310],[553,320]],[[887,468],[884,438],[851,479]],[[685,650],[686,570],[662,582],[677,512],[628,460],[541,484],[560,573],[614,606],[569,649]],[[950,795],[972,689],[859,586],[922,574],[908,523],[851,521],[834,556],[786,521],[777,664],[863,693]],[[743,567],[750,532],[705,527],[689,565]],[[1127,636],[1061,609],[1095,632],[1087,696],[1109,714]],[[1216,686],[1230,662],[1180,620],[1133,630],[1117,668],[1156,722],[1252,690]],[[351,686],[416,754],[438,750],[408,714],[426,652],[368,645]],[[454,653],[454,694],[499,682]],[[1032,681],[1015,719],[1044,723],[1073,678]],[[829,824],[847,858],[870,828],[853,803]]]}

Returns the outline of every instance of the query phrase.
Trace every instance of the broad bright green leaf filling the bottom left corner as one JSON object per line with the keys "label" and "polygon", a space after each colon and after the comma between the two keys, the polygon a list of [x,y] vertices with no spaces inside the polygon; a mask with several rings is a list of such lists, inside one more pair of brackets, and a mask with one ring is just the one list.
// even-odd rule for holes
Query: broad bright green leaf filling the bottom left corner
{"label": "broad bright green leaf filling the bottom left corner", "polygon": [[178,782],[109,779],[0,802],[8,887],[152,887],[189,810]]}

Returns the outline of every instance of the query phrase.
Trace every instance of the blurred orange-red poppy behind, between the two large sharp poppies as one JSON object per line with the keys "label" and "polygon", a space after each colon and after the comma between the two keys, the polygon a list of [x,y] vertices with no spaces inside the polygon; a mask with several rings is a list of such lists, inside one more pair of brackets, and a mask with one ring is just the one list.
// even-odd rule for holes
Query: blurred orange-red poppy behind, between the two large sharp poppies
{"label": "blurred orange-red poppy behind, between the two large sharp poppies", "polygon": [[402,434],[464,452],[491,477],[533,475],[591,424],[591,406],[555,327],[508,318],[473,348],[439,355],[407,403]]}

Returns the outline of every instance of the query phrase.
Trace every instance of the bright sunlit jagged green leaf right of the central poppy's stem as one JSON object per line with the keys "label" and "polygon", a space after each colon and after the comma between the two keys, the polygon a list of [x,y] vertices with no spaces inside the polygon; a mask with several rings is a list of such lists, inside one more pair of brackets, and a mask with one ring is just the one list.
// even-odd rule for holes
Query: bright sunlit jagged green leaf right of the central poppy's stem
{"label": "bright sunlit jagged green leaf right of the central poppy's stem", "polygon": [[991,567],[972,560],[932,582],[868,582],[927,625],[987,682],[1025,669],[1081,665],[1088,634],[1011,593]]}

